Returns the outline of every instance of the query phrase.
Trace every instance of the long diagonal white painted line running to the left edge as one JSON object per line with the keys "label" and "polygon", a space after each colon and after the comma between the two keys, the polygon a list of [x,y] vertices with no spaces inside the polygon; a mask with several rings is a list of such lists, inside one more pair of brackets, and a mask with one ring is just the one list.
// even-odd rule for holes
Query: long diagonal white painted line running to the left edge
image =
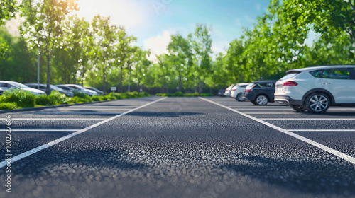
{"label": "long diagonal white painted line running to the left edge", "polygon": [[[106,123],[106,122],[109,122],[109,121],[114,120],[114,119],[116,119],[116,118],[118,118],[118,117],[121,117],[122,115],[126,115],[126,114],[128,114],[128,113],[130,113],[130,112],[133,112],[133,111],[135,111],[135,110],[139,110],[139,109],[141,109],[141,108],[143,108],[143,107],[146,107],[146,106],[148,106],[148,105],[152,105],[153,103],[157,103],[157,102],[159,102],[159,101],[161,101],[161,100],[164,100],[165,98],[167,98],[167,97],[159,98],[158,100],[154,100],[154,101],[151,102],[151,103],[146,103],[145,105],[141,105],[141,106],[136,107],[136,108],[134,108],[134,109],[132,109],[132,110],[126,111],[126,112],[124,112],[124,113],[122,113],[122,114],[120,114],[120,115],[116,115],[116,116],[114,116],[114,117],[110,117],[110,118],[107,119],[107,120],[103,120],[102,122],[99,122],[99,123],[96,123],[96,124],[92,124],[91,126],[86,127],[86,128],[84,128],[84,129],[80,129],[80,130],[78,130],[77,132],[73,132],[72,134],[68,134],[68,135],[66,135],[66,136],[62,136],[60,139],[56,139],[56,140],[54,140],[54,141],[50,141],[50,142],[47,143],[47,144],[43,144],[42,146],[38,146],[38,147],[36,147],[36,148],[31,149],[30,151],[26,151],[25,153],[21,153],[21,154],[19,154],[19,155],[17,155],[17,156],[14,156],[13,158],[11,158],[11,163],[14,163],[14,162],[16,162],[16,161],[19,161],[19,160],[21,160],[21,159],[23,159],[23,158],[26,158],[26,157],[28,157],[28,156],[31,156],[32,154],[37,153],[38,151],[42,151],[42,150],[45,149],[45,148],[49,148],[50,146],[53,146],[53,145],[55,145],[55,144],[58,144],[58,143],[60,143],[61,141],[65,141],[66,139],[70,139],[70,138],[73,137],[73,136],[76,136],[76,135],[78,135],[78,134],[82,134],[82,133],[86,132],[86,131],[89,130],[89,129],[93,129],[94,127],[98,127],[98,126],[100,126],[100,125],[102,125],[102,124],[104,124],[104,123]],[[7,165],[7,161],[2,161],[2,162],[0,163],[0,168],[3,168],[3,167],[6,166],[6,165]]]}

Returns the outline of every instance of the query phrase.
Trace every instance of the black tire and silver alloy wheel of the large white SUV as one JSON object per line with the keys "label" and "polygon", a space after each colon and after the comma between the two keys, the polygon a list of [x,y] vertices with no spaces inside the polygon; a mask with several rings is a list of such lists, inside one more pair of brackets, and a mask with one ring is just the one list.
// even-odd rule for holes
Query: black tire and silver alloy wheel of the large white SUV
{"label": "black tire and silver alloy wheel of the large white SUV", "polygon": [[308,112],[322,113],[329,108],[330,100],[328,95],[324,93],[312,93],[305,100],[305,108]]}

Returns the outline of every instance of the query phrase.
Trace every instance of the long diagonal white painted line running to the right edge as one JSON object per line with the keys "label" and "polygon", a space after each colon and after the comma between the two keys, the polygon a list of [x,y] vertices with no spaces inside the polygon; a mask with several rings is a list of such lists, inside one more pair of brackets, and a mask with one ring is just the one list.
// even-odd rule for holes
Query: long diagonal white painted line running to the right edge
{"label": "long diagonal white painted line running to the right edge", "polygon": [[248,117],[248,118],[250,118],[251,120],[254,120],[254,121],[256,121],[256,122],[259,122],[259,123],[261,123],[261,124],[264,124],[264,125],[266,125],[266,126],[268,126],[268,127],[271,127],[271,128],[273,128],[273,129],[275,129],[275,130],[278,130],[279,132],[283,132],[284,134],[288,134],[289,136],[293,136],[293,137],[295,137],[296,139],[299,139],[300,141],[304,141],[304,142],[306,142],[306,143],[308,143],[308,144],[311,144],[312,146],[315,146],[315,147],[317,147],[317,148],[322,149],[323,151],[327,151],[327,152],[329,152],[329,153],[332,153],[334,156],[338,156],[339,158],[342,158],[342,159],[344,159],[344,160],[346,160],[346,161],[349,161],[350,163],[353,163],[353,164],[355,165],[355,158],[353,158],[353,157],[351,157],[351,156],[349,156],[349,155],[346,155],[346,154],[344,154],[344,153],[342,153],[342,152],[339,152],[339,151],[337,151],[337,150],[334,150],[333,148],[329,148],[328,146],[324,146],[323,144],[320,144],[320,143],[318,143],[318,142],[316,142],[316,141],[312,141],[312,140],[310,140],[310,139],[305,138],[304,136],[300,136],[300,135],[297,135],[297,134],[295,134],[295,133],[293,133],[293,132],[290,132],[290,130],[282,129],[282,128],[277,127],[277,126],[275,126],[275,125],[273,125],[273,124],[270,124],[270,123],[268,123],[268,122],[265,122],[265,121],[263,121],[263,120],[260,120],[260,119],[258,119],[258,118],[256,118],[256,117],[252,117],[251,115],[246,115],[246,113],[240,112],[240,111],[237,111],[237,110],[234,110],[234,109],[232,109],[231,107],[226,107],[226,106],[224,106],[224,105],[221,105],[221,104],[219,104],[219,103],[216,103],[216,102],[214,102],[214,101],[212,101],[212,100],[208,100],[208,99],[206,99],[206,98],[201,98],[201,97],[199,97],[199,98],[200,98],[201,100],[205,100],[205,101],[207,101],[207,102],[209,102],[209,103],[212,103],[212,104],[214,104],[214,105],[218,105],[218,106],[220,106],[220,107],[224,107],[225,109],[231,110],[232,112],[236,112],[236,113],[238,113],[239,115],[243,115],[244,117]]}

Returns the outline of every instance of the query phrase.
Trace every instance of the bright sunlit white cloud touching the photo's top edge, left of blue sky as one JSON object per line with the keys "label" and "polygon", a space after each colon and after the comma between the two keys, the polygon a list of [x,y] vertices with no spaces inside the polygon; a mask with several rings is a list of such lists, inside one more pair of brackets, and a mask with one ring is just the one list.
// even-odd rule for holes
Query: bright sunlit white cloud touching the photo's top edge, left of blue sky
{"label": "bright sunlit white cloud touching the photo's top edge, left of blue sky", "polygon": [[140,4],[129,0],[79,0],[80,11],[77,15],[91,21],[94,16],[111,16],[111,25],[135,28],[145,20]]}

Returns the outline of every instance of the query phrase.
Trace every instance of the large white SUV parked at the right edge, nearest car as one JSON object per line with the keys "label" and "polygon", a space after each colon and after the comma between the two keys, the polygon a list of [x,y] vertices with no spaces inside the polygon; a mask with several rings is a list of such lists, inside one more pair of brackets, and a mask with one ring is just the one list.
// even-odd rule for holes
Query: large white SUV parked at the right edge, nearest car
{"label": "large white SUV parked at the right edge, nearest car", "polygon": [[276,82],[275,101],[297,112],[326,112],[329,106],[355,105],[355,66],[312,66],[286,71]]}

